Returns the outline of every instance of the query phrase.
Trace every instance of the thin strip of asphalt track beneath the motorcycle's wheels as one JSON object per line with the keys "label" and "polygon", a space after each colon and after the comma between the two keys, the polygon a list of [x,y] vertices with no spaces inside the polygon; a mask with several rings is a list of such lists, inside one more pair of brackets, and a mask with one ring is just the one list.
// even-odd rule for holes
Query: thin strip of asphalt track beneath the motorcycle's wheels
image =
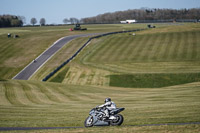
{"label": "thin strip of asphalt track beneath the motorcycle's wheels", "polygon": [[[169,126],[169,125],[199,125],[200,122],[188,123],[166,123],[166,124],[146,124],[146,125],[129,125],[122,127],[143,127],[143,126]],[[72,129],[84,127],[0,127],[0,131],[14,131],[14,130],[49,130],[49,129]]]}

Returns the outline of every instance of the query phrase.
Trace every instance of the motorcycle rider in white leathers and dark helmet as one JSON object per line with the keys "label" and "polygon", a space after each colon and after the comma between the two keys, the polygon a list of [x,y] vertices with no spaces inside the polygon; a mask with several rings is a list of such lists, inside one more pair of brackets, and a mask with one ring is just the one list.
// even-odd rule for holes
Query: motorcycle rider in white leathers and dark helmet
{"label": "motorcycle rider in white leathers and dark helmet", "polygon": [[102,104],[99,106],[99,108],[103,108],[105,107],[104,113],[105,113],[105,117],[109,118],[110,117],[110,111],[113,109],[116,109],[116,105],[113,101],[111,101],[111,98],[106,98],[105,99],[105,104]]}

